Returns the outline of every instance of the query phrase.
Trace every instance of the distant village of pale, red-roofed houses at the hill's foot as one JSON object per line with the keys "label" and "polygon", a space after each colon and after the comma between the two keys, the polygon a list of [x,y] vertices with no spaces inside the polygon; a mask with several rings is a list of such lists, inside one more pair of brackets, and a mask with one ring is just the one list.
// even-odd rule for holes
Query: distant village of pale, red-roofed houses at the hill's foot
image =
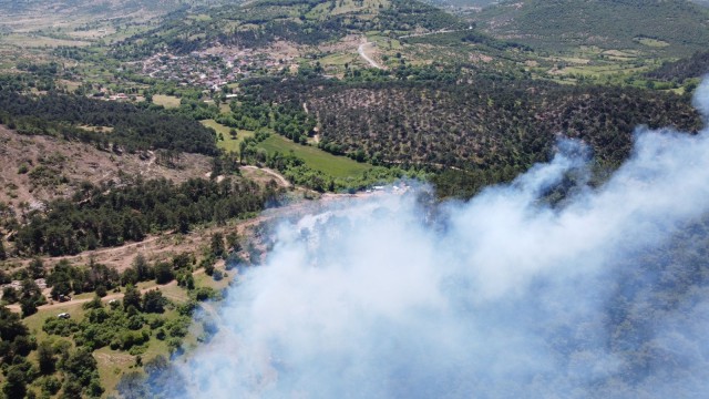
{"label": "distant village of pale, red-roofed houses at the hill's foot", "polygon": [[291,60],[276,59],[268,52],[222,48],[195,51],[187,55],[157,53],[143,61],[143,74],[183,85],[219,90],[248,78],[254,71],[277,71]]}

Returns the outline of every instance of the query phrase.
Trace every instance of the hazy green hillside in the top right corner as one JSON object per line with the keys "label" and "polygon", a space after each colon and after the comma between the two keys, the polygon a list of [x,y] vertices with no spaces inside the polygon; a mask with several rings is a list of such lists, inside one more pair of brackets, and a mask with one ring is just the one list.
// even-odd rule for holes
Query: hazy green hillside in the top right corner
{"label": "hazy green hillside in the top right corner", "polygon": [[689,55],[709,42],[709,11],[686,0],[526,0],[475,16],[499,38],[537,49],[597,45]]}

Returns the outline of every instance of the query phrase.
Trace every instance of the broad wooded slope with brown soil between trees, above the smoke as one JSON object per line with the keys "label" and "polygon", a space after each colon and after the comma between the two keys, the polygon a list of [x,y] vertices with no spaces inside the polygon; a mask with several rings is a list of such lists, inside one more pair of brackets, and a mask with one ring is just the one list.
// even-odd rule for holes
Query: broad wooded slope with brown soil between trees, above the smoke
{"label": "broad wooded slope with brown soil between trees, above the smoke", "polygon": [[[551,154],[557,135],[586,141],[615,165],[630,151],[637,125],[697,131],[687,98],[614,86],[562,86],[491,80],[470,84],[260,82],[264,101],[307,102],[319,146],[374,164],[521,171]],[[281,108],[285,105],[281,105]]]}

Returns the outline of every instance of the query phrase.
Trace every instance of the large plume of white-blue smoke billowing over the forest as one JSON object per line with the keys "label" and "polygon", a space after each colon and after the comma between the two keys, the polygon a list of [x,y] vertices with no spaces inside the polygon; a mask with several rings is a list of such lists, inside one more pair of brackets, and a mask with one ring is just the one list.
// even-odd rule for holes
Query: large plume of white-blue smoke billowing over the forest
{"label": "large plume of white-blue smoke billowing over the forest", "polygon": [[[709,115],[709,82],[695,104]],[[686,257],[707,233],[677,237],[709,211],[709,132],[639,129],[605,185],[549,206],[584,174],[583,145],[561,146],[467,203],[389,194],[285,222],[183,367],[186,396],[702,397],[709,268]]]}

